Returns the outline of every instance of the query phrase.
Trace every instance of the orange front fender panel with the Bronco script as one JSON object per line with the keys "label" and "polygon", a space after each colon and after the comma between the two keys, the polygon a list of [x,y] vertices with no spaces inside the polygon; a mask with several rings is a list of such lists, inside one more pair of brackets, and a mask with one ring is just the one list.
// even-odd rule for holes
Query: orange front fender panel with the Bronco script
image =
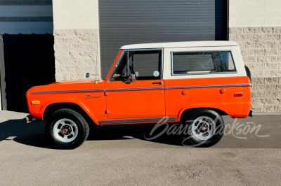
{"label": "orange front fender panel with the Bronco script", "polygon": [[[106,120],[107,117],[104,89],[104,82],[98,84],[94,84],[93,81],[51,83],[28,90],[27,103],[30,114],[39,119],[43,119],[46,107],[52,103],[75,103],[83,108],[94,122],[98,122],[98,120]],[[91,90],[100,90],[100,92],[91,92]],[[32,94],[32,92],[41,92],[41,94]],[[31,105],[32,100],[39,100],[40,105]]]}

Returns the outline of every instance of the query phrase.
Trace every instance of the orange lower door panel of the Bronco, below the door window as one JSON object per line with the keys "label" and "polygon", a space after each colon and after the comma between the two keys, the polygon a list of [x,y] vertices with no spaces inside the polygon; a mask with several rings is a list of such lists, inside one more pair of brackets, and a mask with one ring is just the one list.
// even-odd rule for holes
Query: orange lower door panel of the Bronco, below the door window
{"label": "orange lower door panel of the Bronco, below the door window", "polygon": [[[162,82],[162,85],[152,84]],[[165,116],[165,94],[163,80],[140,80],[135,83],[122,81],[106,82],[107,119],[150,118]],[[141,90],[148,88],[148,90]],[[159,88],[149,90],[150,88]],[[162,88],[162,89],[161,89]],[[138,90],[140,89],[140,90]]]}

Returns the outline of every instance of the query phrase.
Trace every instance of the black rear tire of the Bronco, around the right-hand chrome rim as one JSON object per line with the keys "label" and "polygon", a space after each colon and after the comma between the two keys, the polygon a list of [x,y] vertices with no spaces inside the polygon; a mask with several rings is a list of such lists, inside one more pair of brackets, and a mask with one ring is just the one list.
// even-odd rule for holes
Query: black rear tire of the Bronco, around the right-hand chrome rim
{"label": "black rear tire of the Bronco, around the right-hand chrome rim", "polygon": [[[212,136],[210,135],[209,138],[208,136],[206,136],[207,139],[200,139],[197,138],[197,136],[194,135],[196,130],[193,130],[192,132],[192,124],[195,120],[198,120],[198,118],[205,118],[207,119],[207,121],[209,121],[209,123],[214,124],[214,133]],[[211,118],[212,121],[211,122],[209,120],[209,118]],[[206,121],[206,120],[204,120]],[[218,141],[221,140],[221,138],[223,137],[223,133],[224,133],[224,123],[223,123],[223,118],[221,117],[221,115],[219,115],[218,113],[216,113],[214,110],[208,110],[208,109],[199,109],[199,110],[192,110],[190,113],[188,113],[187,115],[184,115],[182,120],[181,120],[182,124],[188,124],[188,131],[187,134],[185,134],[184,138],[186,142],[189,142],[189,144],[193,147],[210,147],[212,145],[215,145],[216,143],[218,143]],[[193,124],[193,126],[196,125],[197,122],[195,122]],[[197,126],[200,126],[201,124],[201,129],[206,129],[203,128],[204,126],[202,124],[204,124],[204,122],[198,122]],[[211,126],[211,124],[209,124],[209,126]],[[199,127],[200,128],[200,127]],[[197,130],[197,132],[204,134],[204,132],[200,132],[199,130]],[[204,138],[204,137],[203,137]],[[185,145],[185,144],[183,144]]]}

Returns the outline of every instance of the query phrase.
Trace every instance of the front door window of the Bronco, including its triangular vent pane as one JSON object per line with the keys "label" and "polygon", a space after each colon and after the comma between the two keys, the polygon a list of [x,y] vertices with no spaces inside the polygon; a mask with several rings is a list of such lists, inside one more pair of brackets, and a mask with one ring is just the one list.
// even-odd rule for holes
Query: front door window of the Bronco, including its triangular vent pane
{"label": "front door window of the Bronco, including its triangular vent pane", "polygon": [[[125,51],[119,62],[112,81],[126,81],[130,74],[136,75],[136,80],[158,80],[161,78],[162,50]],[[155,76],[158,71],[158,76]]]}

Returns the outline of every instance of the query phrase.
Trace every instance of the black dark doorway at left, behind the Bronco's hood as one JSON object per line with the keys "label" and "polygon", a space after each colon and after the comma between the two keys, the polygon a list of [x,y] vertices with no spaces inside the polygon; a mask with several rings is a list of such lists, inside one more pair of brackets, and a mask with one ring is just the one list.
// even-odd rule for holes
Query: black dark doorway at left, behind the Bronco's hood
{"label": "black dark doorway at left, behind the Bronco's hood", "polygon": [[55,82],[53,35],[4,35],[7,110],[27,111],[25,93]]}

